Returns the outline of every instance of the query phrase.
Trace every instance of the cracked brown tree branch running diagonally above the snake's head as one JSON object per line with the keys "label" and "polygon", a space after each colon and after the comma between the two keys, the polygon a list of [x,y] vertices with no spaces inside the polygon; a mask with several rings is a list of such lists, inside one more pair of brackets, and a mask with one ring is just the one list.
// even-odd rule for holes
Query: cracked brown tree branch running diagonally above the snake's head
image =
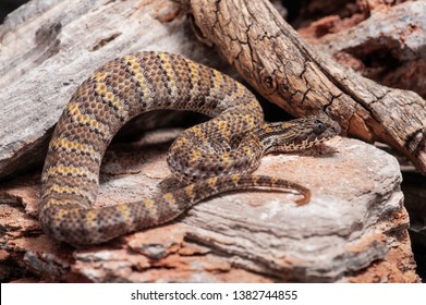
{"label": "cracked brown tree branch running diagonally above the snake's head", "polygon": [[426,101],[417,94],[380,86],[318,54],[267,0],[177,2],[192,13],[197,36],[268,100],[297,117],[327,109],[344,133],[387,143],[426,173]]}

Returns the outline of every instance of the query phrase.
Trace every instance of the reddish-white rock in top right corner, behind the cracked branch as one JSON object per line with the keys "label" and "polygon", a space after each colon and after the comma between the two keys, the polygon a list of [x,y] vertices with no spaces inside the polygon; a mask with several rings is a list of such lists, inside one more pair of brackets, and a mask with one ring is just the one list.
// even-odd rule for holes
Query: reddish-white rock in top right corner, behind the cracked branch
{"label": "reddish-white rock in top right corner, behind the cracked branch", "polygon": [[[297,32],[362,75],[387,86],[414,90],[425,98],[426,2],[378,7],[368,13],[367,20],[346,29],[339,30],[321,19]],[[343,21],[334,16],[334,22]],[[318,36],[320,28],[331,33]]]}

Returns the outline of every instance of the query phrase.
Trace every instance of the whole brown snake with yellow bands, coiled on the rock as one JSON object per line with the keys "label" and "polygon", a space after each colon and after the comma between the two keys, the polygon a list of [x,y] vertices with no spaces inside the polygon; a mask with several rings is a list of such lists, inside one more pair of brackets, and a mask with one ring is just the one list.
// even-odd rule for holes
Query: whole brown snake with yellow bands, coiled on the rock
{"label": "whole brown snake with yellow bands, coiled on the rock", "polygon": [[[187,186],[156,198],[93,208],[107,146],[130,119],[178,109],[214,119],[184,131],[167,160]],[[39,220],[52,237],[72,245],[97,244],[178,217],[216,194],[246,188],[307,188],[251,174],[264,154],[307,148],[340,133],[327,114],[264,123],[261,108],[243,85],[181,56],[139,52],[112,60],[77,88],[49,145],[41,176]]]}

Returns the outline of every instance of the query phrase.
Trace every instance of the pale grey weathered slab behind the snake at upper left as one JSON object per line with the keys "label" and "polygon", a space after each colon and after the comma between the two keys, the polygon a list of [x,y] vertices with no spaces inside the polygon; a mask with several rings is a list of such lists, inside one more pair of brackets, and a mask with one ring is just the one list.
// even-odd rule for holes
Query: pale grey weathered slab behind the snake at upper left
{"label": "pale grey weathered slab behind the snake at upper left", "polygon": [[33,0],[11,13],[0,25],[0,180],[42,163],[72,94],[108,60],[158,50],[224,68],[188,28],[167,0]]}

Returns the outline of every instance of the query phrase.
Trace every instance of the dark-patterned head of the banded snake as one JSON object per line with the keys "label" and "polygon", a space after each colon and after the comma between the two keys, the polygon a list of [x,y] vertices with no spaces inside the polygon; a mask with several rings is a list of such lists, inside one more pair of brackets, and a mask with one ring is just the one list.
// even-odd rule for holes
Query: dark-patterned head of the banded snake
{"label": "dark-patterned head of the banded snake", "polygon": [[341,127],[326,112],[288,121],[264,124],[258,136],[265,152],[295,151],[309,148],[338,134]]}

